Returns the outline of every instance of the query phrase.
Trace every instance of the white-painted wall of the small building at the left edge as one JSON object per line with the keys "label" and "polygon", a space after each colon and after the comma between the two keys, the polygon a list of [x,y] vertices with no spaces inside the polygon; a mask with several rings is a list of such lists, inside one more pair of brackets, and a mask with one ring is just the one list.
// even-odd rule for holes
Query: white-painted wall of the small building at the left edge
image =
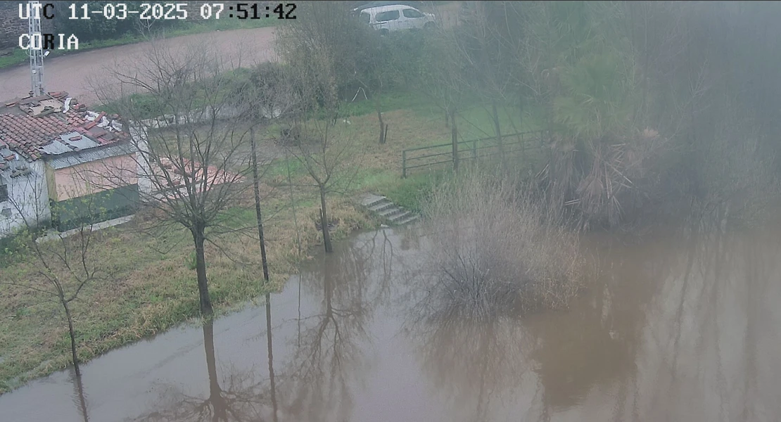
{"label": "white-painted wall of the small building at the left edge", "polygon": [[24,227],[25,219],[31,225],[41,225],[52,218],[45,163],[43,160],[37,160],[28,165],[32,172],[26,176],[11,178],[10,171],[4,172],[4,179],[8,182],[9,200],[0,202],[0,211],[10,208],[11,217],[0,214],[0,237],[8,236]]}

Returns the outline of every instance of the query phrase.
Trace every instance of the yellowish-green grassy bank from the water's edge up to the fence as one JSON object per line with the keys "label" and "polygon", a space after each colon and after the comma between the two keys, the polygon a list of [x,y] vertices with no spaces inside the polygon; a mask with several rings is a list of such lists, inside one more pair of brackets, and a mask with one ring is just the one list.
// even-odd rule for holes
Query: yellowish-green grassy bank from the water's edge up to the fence
{"label": "yellowish-green grassy bank from the water's edge up to the fence", "polygon": [[[394,202],[419,209],[421,194],[444,172],[419,172],[401,179],[401,151],[405,148],[441,144],[450,139],[450,129],[444,126],[437,108],[423,98],[394,94],[383,98],[385,121],[390,124],[387,144],[376,140],[377,121],[369,103],[348,106],[350,124],[340,122],[333,133],[358,140],[356,154],[362,161],[358,169],[355,190],[347,197],[333,196],[331,215],[338,221],[335,239],[344,239],[355,229],[376,227],[379,222],[356,209],[351,196],[363,192],[380,193]],[[480,117],[475,108],[464,113],[459,126],[464,137],[477,137],[490,130],[490,119]],[[471,128],[471,129],[469,129]],[[266,138],[274,133],[269,127]],[[266,139],[261,154],[269,151],[273,142]],[[291,162],[294,185],[305,183],[307,176],[300,165]],[[207,249],[209,289],[216,311],[224,313],[256,300],[263,293],[277,290],[296,271],[301,259],[306,259],[321,242],[316,229],[319,202],[311,190],[294,191],[294,203],[301,237],[298,255],[293,211],[288,196],[287,162],[276,160],[266,173],[262,192],[266,193],[263,211],[266,218],[266,239],[269,255],[270,285],[259,278],[260,259],[256,232],[247,229],[241,234],[219,237],[219,249]],[[251,200],[228,211],[239,226],[251,228],[255,221]],[[80,358],[89,360],[109,349],[122,346],[166,330],[198,316],[198,292],[192,264],[192,240],[184,229],[166,236],[141,234],[132,222],[98,236],[94,246],[95,259],[109,263],[112,277],[88,285],[73,303]],[[0,268],[0,279],[37,279],[36,258],[18,254],[6,260]],[[44,283],[43,280],[40,280]],[[44,285],[44,284],[41,284]],[[30,378],[49,374],[66,367],[69,362],[69,342],[66,323],[59,303],[44,301],[41,293],[21,287],[0,286],[0,392],[22,385]]]}

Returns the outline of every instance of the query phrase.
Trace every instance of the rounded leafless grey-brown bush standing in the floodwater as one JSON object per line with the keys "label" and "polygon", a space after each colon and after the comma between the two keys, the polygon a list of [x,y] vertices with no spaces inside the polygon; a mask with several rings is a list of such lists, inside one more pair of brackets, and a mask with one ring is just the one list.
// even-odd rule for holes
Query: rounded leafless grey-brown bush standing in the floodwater
{"label": "rounded leafless grey-brown bush standing in the floodwater", "polygon": [[583,274],[578,238],[524,192],[480,169],[433,191],[424,210],[433,243],[427,306],[487,317],[568,305]]}

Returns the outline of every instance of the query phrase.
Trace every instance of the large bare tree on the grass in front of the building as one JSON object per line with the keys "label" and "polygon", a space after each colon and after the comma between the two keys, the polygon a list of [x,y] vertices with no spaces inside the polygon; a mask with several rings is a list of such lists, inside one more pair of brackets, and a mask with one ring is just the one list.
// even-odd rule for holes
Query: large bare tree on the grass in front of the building
{"label": "large bare tree on the grass in front of the building", "polygon": [[[205,243],[228,229],[226,211],[244,195],[248,165],[245,107],[233,94],[241,87],[215,51],[203,46],[176,50],[152,44],[131,68],[112,77],[137,96],[116,100],[130,119],[137,147],[139,195],[159,218],[155,229],[178,225],[192,236],[201,314],[212,314]],[[109,92],[98,92],[105,102]],[[144,101],[137,101],[143,98]],[[136,100],[136,101],[134,101]],[[159,118],[146,119],[159,114]],[[219,246],[217,246],[219,247]]]}

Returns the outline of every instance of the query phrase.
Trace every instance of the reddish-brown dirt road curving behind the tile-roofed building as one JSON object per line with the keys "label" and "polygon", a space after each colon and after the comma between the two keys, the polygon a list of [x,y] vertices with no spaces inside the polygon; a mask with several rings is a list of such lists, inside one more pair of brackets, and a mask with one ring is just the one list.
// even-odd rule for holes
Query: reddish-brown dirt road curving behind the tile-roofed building
{"label": "reddish-brown dirt road curving behind the tile-roofed building", "polygon": [[[187,44],[213,45],[223,58],[234,66],[250,66],[273,59],[274,28],[230,30],[205,34],[186,35],[163,41],[172,47]],[[48,91],[68,91],[80,102],[95,104],[97,97],[90,87],[90,80],[100,77],[105,69],[116,64],[141,59],[148,43],[119,45],[63,55],[45,60],[44,83]],[[0,70],[0,101],[25,96],[30,90],[29,66],[17,66]]]}

